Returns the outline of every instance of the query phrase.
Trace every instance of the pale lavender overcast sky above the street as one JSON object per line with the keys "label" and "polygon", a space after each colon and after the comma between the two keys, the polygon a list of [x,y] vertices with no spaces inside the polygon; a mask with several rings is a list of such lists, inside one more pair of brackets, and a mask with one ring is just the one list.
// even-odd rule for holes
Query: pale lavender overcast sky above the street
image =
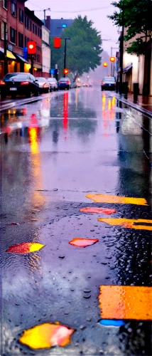
{"label": "pale lavender overcast sky above the street", "polygon": [[[75,19],[77,15],[87,16],[88,20],[94,22],[94,27],[102,34],[102,48],[111,54],[111,47],[118,48],[118,29],[113,25],[112,20],[107,18],[114,12],[112,0],[28,0],[26,6],[34,10],[39,19],[43,19],[43,9],[50,7],[51,11],[46,11],[52,19]],[[42,10],[42,11],[40,11]],[[116,49],[113,49],[114,56]]]}

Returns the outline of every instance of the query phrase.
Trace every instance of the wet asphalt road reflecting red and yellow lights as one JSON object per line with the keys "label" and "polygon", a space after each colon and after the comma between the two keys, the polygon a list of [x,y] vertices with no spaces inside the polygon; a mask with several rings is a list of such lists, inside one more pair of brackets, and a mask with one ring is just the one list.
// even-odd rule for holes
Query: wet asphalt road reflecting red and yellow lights
{"label": "wet asphalt road reflecting red and yellow lights", "polygon": [[[151,323],[103,327],[98,301],[102,285],[151,286],[151,231],[80,212],[106,207],[116,209],[113,218],[151,219],[151,119],[113,92],[77,88],[2,111],[0,130],[1,354],[151,355]],[[149,205],[94,203],[89,193]],[[99,242],[68,244],[76,237]],[[45,247],[6,253],[23,242]],[[18,342],[23,330],[55,321],[76,329],[69,345],[32,350]]]}

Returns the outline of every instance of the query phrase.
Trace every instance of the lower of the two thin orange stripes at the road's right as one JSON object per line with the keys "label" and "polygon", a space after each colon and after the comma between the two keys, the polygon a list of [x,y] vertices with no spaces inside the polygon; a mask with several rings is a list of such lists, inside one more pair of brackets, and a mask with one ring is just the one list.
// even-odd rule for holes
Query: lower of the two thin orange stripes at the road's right
{"label": "lower of the two thin orange stripes at the road's right", "polygon": [[[147,219],[114,219],[114,218],[98,218],[98,221],[102,221],[109,225],[122,226],[125,229],[136,229],[136,230],[149,230],[152,231],[152,226],[140,225],[143,224],[152,224],[152,220]],[[137,225],[135,225],[137,224]]]}

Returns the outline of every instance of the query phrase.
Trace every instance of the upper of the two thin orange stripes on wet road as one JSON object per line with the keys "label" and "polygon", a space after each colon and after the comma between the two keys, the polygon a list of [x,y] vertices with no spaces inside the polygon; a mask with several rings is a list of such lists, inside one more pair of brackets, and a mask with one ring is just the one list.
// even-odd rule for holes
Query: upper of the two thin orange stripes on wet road
{"label": "upper of the two thin orange stripes on wet road", "polygon": [[148,205],[144,198],[119,197],[108,194],[87,194],[85,197],[92,199],[95,203]]}

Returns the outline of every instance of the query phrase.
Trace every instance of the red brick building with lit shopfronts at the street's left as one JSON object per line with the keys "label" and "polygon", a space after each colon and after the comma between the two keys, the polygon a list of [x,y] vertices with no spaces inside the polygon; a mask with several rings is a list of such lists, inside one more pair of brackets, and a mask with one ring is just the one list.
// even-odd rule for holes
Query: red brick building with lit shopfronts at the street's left
{"label": "red brick building with lit shopfronts at the street's left", "polygon": [[[33,63],[33,74],[42,72],[42,25],[34,11],[25,7],[26,0],[0,0],[0,78],[4,77],[4,46],[6,26],[6,71],[28,72],[30,61],[24,58],[28,41],[36,41],[36,60]],[[5,25],[6,23],[6,25]]]}

